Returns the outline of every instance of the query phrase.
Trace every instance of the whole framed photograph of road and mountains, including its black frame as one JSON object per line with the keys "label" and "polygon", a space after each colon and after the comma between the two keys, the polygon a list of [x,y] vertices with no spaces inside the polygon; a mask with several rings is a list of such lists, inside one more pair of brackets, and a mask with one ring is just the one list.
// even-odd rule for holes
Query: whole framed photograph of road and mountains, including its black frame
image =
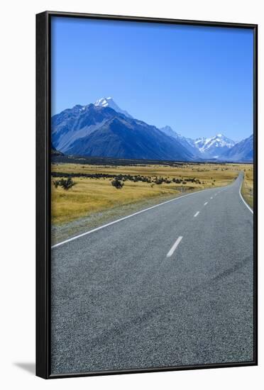
{"label": "whole framed photograph of road and mountains, including its black frame", "polygon": [[36,374],[257,364],[257,26],[36,23]]}

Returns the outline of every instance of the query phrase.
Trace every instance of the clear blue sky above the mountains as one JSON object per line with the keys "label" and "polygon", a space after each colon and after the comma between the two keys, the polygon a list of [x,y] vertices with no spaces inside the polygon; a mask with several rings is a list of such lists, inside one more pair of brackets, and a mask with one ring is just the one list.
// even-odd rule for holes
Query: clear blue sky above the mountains
{"label": "clear blue sky above the mountains", "polygon": [[52,113],[111,96],[185,137],[253,133],[253,31],[52,19]]}

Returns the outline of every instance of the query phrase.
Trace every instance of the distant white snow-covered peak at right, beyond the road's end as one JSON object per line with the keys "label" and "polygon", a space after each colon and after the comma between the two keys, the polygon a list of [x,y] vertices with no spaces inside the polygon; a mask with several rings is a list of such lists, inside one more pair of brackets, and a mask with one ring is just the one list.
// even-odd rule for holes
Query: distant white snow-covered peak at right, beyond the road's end
{"label": "distant white snow-covered peak at right, beyond the road's end", "polygon": [[219,133],[211,138],[197,138],[194,140],[194,145],[204,157],[217,159],[236,145],[236,142]]}

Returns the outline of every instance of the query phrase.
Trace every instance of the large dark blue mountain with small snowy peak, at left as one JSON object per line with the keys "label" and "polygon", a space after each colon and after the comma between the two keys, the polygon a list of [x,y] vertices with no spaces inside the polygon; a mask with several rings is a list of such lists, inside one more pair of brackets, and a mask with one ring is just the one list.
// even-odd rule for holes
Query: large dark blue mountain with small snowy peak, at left
{"label": "large dark blue mountain with small snowy peak, at left", "polygon": [[193,161],[176,139],[103,101],[66,109],[51,118],[51,127],[54,148],[66,155]]}

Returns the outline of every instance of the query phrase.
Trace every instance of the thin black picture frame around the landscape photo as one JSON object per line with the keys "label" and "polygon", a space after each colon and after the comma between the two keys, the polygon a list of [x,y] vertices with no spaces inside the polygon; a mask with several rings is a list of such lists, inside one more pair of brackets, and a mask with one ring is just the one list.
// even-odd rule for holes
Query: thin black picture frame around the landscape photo
{"label": "thin black picture frame around the landscape photo", "polygon": [[[254,35],[253,133],[254,133],[254,359],[251,362],[203,364],[182,367],[112,370],[51,374],[50,372],[50,18],[89,18],[141,23],[169,23],[191,26],[247,28]],[[36,375],[44,379],[87,377],[106,374],[162,372],[186,369],[245,367],[258,364],[258,25],[213,21],[187,21],[167,18],[98,15],[45,11],[36,15]]]}

